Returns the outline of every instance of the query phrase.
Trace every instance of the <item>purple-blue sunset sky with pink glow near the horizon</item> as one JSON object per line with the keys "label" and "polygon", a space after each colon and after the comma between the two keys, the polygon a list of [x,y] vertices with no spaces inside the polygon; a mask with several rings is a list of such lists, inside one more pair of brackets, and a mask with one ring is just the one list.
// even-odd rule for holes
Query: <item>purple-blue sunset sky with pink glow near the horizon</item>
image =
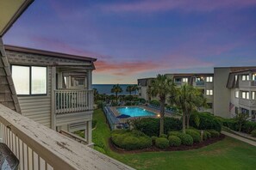
{"label": "purple-blue sunset sky with pink glow near the horizon", "polygon": [[35,0],[3,37],[97,58],[94,84],[256,65],[256,0]]}

